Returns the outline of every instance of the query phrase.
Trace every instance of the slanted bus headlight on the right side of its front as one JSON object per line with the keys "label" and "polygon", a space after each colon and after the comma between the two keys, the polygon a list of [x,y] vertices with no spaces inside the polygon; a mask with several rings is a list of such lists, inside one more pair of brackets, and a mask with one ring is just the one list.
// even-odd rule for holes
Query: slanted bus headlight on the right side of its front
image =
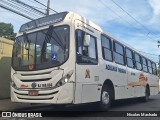
{"label": "slanted bus headlight on the right side of its front", "polygon": [[70,77],[72,76],[72,74],[73,74],[73,71],[71,71],[71,72],[69,72],[67,75],[65,75],[63,78],[61,78],[57,83],[56,83],[56,87],[60,87],[60,86],[62,86],[62,85],[64,85],[64,84],[66,84],[68,81],[69,81],[69,79],[70,79]]}

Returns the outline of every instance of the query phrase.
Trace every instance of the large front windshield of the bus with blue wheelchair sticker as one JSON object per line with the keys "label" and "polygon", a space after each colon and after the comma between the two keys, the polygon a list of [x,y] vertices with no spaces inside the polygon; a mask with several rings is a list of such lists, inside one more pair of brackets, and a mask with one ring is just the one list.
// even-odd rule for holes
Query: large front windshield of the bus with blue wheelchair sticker
{"label": "large front windshield of the bus with blue wheelchair sticker", "polygon": [[15,70],[41,70],[60,66],[69,56],[69,27],[23,34],[16,38],[12,67]]}

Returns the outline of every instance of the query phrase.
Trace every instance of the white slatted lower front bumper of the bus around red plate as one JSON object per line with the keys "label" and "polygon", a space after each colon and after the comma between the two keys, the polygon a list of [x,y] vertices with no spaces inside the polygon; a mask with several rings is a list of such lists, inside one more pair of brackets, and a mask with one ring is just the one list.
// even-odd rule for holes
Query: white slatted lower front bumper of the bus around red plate
{"label": "white slatted lower front bumper of the bus around red plate", "polygon": [[[38,95],[29,96],[31,90],[18,90],[11,86],[11,101],[20,103],[49,103],[49,104],[72,104],[74,83],[50,89],[38,90]],[[32,89],[33,90],[33,89]]]}

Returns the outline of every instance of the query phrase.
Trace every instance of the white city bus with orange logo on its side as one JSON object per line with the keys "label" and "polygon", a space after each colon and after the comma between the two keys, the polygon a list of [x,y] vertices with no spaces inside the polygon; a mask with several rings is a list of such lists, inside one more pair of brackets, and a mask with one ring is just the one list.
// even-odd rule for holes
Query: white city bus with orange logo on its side
{"label": "white city bus with orange logo on its side", "polygon": [[112,100],[148,101],[159,89],[155,62],[73,12],[21,26],[11,78],[12,102],[97,102],[102,110]]}

